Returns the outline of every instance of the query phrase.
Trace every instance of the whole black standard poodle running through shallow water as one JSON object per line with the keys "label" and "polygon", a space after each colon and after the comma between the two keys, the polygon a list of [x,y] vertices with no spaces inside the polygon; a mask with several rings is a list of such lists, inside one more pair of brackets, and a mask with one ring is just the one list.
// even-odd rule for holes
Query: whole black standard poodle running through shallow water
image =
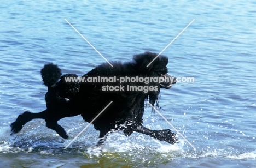
{"label": "whole black standard poodle running through shallow water", "polygon": [[113,67],[103,63],[80,79],[75,74],[61,76],[61,69],[52,63],[44,65],[41,75],[48,87],[46,110],[19,115],[11,123],[11,134],[18,133],[32,119],[42,118],[46,127],[66,139],[68,135],[57,121],[81,115],[84,121],[91,122],[112,101],[92,122],[100,130],[100,142],[113,130],[123,130],[127,136],[136,131],[171,144],[178,142],[170,129],[150,130],[142,125],[144,101],[158,107],[160,88],[169,89],[176,83],[175,77],[167,74],[168,58],[156,56],[145,52],[134,55],[131,62],[112,62]]}

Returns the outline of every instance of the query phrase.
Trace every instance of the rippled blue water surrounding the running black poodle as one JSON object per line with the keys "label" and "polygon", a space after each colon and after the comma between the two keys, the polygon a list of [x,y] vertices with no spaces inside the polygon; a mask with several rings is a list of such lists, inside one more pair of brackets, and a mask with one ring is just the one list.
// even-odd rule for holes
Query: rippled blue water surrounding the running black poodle
{"label": "rippled blue water surrounding the running black poodle", "polygon": [[[0,5],[0,160],[3,167],[255,167],[254,1],[5,1]],[[131,61],[132,55],[162,53],[169,74],[194,77],[161,91],[162,114],[187,137],[169,145],[138,133],[110,135],[95,146],[98,131],[82,117],[59,123],[63,140],[43,120],[27,123],[15,136],[9,124],[29,110],[45,109],[40,69],[53,62],[63,73],[82,76],[103,58]],[[170,128],[146,108],[144,125]]]}

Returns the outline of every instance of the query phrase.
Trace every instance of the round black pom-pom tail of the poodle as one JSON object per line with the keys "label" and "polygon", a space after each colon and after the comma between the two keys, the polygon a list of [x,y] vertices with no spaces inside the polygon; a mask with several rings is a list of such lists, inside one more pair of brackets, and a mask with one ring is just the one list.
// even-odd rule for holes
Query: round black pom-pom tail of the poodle
{"label": "round black pom-pom tail of the poodle", "polygon": [[44,68],[41,69],[41,75],[45,86],[53,86],[61,77],[61,69],[53,64],[45,64]]}

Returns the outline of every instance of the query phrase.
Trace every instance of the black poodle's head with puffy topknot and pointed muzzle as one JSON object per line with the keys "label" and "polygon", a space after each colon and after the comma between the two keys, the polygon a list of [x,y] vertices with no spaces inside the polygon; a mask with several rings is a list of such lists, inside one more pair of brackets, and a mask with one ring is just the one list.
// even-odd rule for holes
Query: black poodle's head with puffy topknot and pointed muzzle
{"label": "black poodle's head with puffy topknot and pointed muzzle", "polygon": [[153,78],[158,77],[159,88],[170,89],[172,84],[176,83],[176,78],[167,74],[168,69],[166,65],[168,64],[168,58],[166,56],[145,52],[133,56],[133,61],[139,73]]}

